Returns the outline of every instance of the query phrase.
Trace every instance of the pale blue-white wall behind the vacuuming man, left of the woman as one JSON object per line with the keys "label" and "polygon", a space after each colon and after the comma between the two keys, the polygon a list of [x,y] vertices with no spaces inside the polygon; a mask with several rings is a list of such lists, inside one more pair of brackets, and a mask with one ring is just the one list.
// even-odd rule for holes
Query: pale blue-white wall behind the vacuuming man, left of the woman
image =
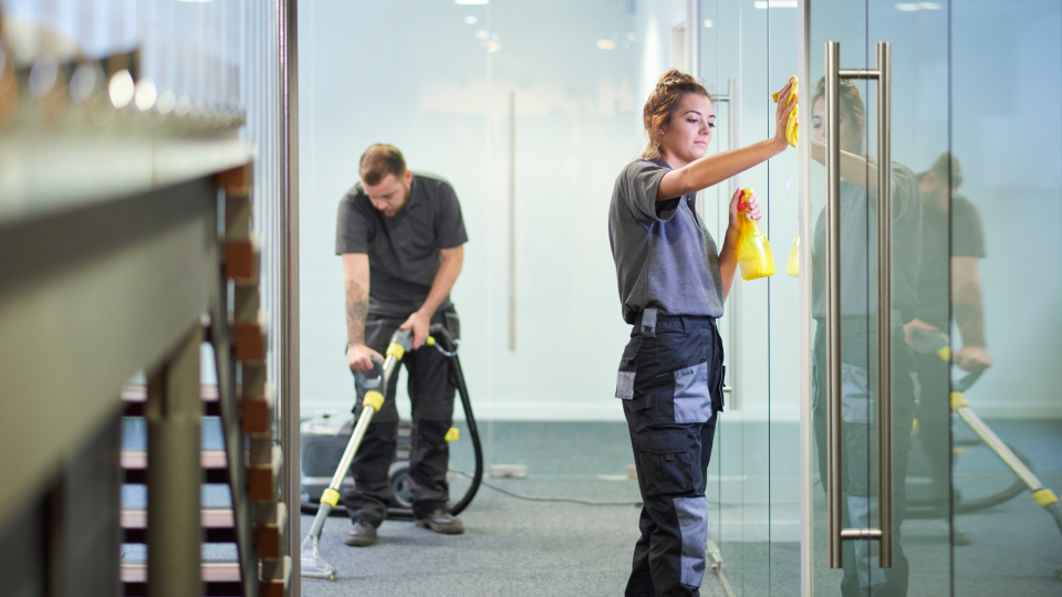
{"label": "pale blue-white wall behind the vacuuming man, left of the woman", "polygon": [[[460,198],[469,243],[452,296],[477,415],[622,418],[613,391],[628,328],[606,213],[616,175],[641,148],[632,8],[300,2],[303,416],[351,407],[335,209],[361,153],[383,142],[413,169],[449,179]],[[399,410],[407,404],[400,390]]]}

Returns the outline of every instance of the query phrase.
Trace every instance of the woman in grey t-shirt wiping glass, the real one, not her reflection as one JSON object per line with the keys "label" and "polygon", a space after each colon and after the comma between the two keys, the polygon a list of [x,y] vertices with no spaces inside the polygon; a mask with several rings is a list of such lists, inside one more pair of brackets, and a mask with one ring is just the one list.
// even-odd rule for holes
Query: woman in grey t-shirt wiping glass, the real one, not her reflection
{"label": "woman in grey t-shirt wiping glass, the real one, not her reflection", "polygon": [[[634,447],[644,506],[626,595],[698,595],[705,575],[705,499],[715,413],[722,410],[722,342],[716,318],[733,281],[738,199],[716,250],[696,192],[782,153],[792,112],[787,85],[774,137],[706,157],[715,114],[708,92],[665,73],[643,111],[649,147],[616,179],[608,239],[623,318],[634,326],[616,397]],[[793,104],[795,105],[795,103]],[[758,199],[749,217],[759,219]]]}

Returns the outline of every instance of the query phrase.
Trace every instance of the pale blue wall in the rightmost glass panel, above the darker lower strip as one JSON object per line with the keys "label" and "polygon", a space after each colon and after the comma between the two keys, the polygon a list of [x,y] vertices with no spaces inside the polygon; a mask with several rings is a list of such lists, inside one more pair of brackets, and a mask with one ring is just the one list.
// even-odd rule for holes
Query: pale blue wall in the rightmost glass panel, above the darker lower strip
{"label": "pale blue wall in the rightmost glass panel, above the darker lower strip", "polygon": [[985,230],[996,359],[967,397],[982,417],[1062,417],[1062,7],[951,7],[951,147]]}

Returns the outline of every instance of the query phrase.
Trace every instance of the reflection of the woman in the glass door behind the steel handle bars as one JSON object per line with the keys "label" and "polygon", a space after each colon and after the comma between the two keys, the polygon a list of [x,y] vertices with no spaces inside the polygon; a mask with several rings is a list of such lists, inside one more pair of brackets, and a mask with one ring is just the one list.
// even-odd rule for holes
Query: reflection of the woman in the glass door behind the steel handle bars
{"label": "reflection of the woman in the glass door behind the steel handle bars", "polygon": [[[877,525],[877,237],[876,196],[878,165],[866,158],[866,113],[858,87],[840,82],[841,100],[841,417],[843,522],[845,528]],[[825,82],[815,87],[812,102],[812,157],[824,161]],[[899,541],[904,517],[907,451],[915,409],[917,378],[910,348],[904,342],[903,324],[918,311],[915,284],[922,240],[922,208],[914,175],[891,165],[893,220],[893,566],[877,564],[877,544],[846,541],[844,544],[845,596],[906,595],[907,558]],[[813,409],[819,471],[826,483],[826,343],[825,343],[825,213],[815,223],[812,244],[812,315],[818,321],[814,349]],[[870,588],[868,588],[870,587]],[[868,593],[870,591],[870,593]]]}

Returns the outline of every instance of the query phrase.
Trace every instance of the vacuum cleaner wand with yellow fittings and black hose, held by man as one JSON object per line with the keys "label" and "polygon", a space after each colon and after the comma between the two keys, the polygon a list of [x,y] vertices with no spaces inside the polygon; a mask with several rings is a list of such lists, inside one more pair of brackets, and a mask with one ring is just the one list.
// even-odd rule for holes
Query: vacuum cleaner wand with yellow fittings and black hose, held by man
{"label": "vacuum cleaner wand with yellow fittings and black hose, held by man", "polygon": [[[440,324],[433,325],[429,328],[429,336],[425,342],[425,346],[421,349],[435,348],[439,350],[444,356],[450,360],[450,376],[455,385],[457,386],[458,392],[461,397],[461,406],[465,410],[465,419],[468,425],[469,436],[472,440],[472,449],[476,455],[476,470],[472,474],[472,482],[465,495],[457,501],[455,504],[450,505],[447,510],[450,514],[457,515],[464,511],[472,499],[476,496],[476,492],[479,490],[480,483],[483,478],[483,451],[482,444],[479,438],[479,429],[476,426],[476,418],[472,415],[471,401],[468,397],[468,388],[465,384],[465,374],[461,370],[461,363],[458,358],[458,342],[449,334],[445,326]],[[336,510],[340,501],[340,490],[343,485],[344,479],[347,478],[351,470],[351,462],[354,460],[354,454],[357,453],[357,448],[361,446],[362,439],[365,437],[365,431],[368,429],[369,422],[372,422],[373,416],[379,411],[384,405],[384,392],[391,383],[391,379],[398,371],[398,364],[402,362],[402,358],[410,349],[413,345],[413,333],[410,329],[399,329],[391,338],[391,343],[385,353],[385,359],[381,362],[379,359],[374,358],[374,367],[372,370],[366,374],[356,374],[355,379],[358,385],[366,390],[365,397],[362,400],[364,408],[362,413],[357,419],[357,422],[354,425],[351,430],[350,440],[346,441],[346,447],[343,450],[342,455],[339,459],[339,462],[335,467],[335,473],[332,475],[332,480],[329,482],[327,488],[321,493],[320,503],[316,509],[316,516],[313,520],[313,525],[310,528],[310,533],[306,534],[306,537],[302,541],[301,547],[301,568],[302,576],[305,578],[320,578],[332,580],[335,578],[335,567],[324,561],[321,556],[321,532],[324,530],[324,523],[327,521],[329,515]],[[456,439],[457,429],[450,429],[450,432],[447,433],[447,441]],[[336,434],[333,437],[342,437]],[[408,434],[406,436],[408,438]],[[408,441],[407,441],[408,446]],[[400,452],[399,446],[399,452]],[[406,451],[408,454],[408,450]],[[408,455],[407,455],[408,458]],[[400,471],[403,467],[405,470],[408,470],[408,463],[403,463],[402,461],[395,462],[395,465],[398,467]],[[392,471],[395,471],[395,465],[393,465]],[[306,462],[303,462],[303,469],[306,468]],[[395,484],[396,481],[403,479],[398,474],[392,474],[392,482]],[[305,483],[303,485],[305,489]],[[402,488],[395,488],[396,495],[400,495]],[[306,492],[304,492],[304,495]],[[406,505],[406,500],[398,500],[399,504]],[[342,507],[342,506],[340,506]],[[388,519],[413,519],[412,507],[398,507],[388,510]]]}

